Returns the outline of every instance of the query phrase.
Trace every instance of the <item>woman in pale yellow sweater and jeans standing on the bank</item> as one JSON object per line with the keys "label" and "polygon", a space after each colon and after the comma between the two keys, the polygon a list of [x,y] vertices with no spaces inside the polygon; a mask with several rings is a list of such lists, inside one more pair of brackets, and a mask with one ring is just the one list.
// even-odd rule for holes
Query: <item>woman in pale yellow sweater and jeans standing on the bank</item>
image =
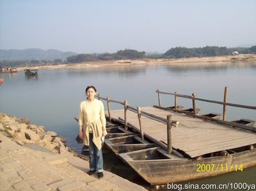
{"label": "woman in pale yellow sweater and jeans standing on the bank", "polygon": [[79,137],[84,145],[89,146],[90,171],[92,175],[98,172],[98,177],[103,177],[102,137],[106,136],[106,118],[104,105],[95,99],[97,90],[88,86],[85,90],[87,99],[80,103],[79,110]]}

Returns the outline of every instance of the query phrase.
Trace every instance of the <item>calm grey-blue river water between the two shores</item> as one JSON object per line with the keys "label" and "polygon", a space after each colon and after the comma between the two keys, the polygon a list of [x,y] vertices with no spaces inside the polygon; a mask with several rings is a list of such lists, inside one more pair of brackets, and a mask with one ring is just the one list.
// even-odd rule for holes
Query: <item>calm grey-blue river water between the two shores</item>
{"label": "calm grey-blue river water between the two shores", "polygon": [[[81,149],[74,141],[79,103],[84,100],[84,89],[94,85],[100,96],[113,100],[127,100],[129,105],[157,105],[156,89],[191,95],[198,98],[223,101],[225,86],[228,86],[228,102],[256,105],[256,62],[227,63],[222,66],[122,66],[84,69],[40,70],[38,77],[26,77],[24,72],[0,74],[4,84],[0,86],[0,112],[17,118],[29,118],[31,123],[43,125],[65,137],[70,148]],[[178,98],[179,105],[192,107],[191,100]],[[174,105],[173,96],[161,96],[162,105]],[[197,102],[202,114],[222,112],[221,105]],[[106,103],[104,103],[106,105]],[[121,109],[116,103],[111,109]],[[248,118],[256,120],[252,110],[227,108],[227,119]],[[256,168],[248,172],[236,172],[200,180],[204,183],[221,181],[248,181]],[[252,176],[252,174],[254,174]],[[221,178],[220,178],[221,177]],[[224,178],[222,178],[224,177]],[[200,182],[199,181],[199,182]],[[197,181],[193,181],[197,182]]]}

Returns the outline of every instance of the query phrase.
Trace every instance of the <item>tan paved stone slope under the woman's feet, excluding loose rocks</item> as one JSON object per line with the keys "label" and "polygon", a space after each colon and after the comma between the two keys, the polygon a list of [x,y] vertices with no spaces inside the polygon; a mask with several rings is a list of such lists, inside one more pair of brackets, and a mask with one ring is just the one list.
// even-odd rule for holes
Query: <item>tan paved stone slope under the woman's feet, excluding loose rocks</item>
{"label": "tan paved stone slope under the woman's feet, excluding loose rocks", "polygon": [[20,146],[0,132],[0,190],[146,190],[104,171],[88,176],[88,162],[72,153],[60,154]]}

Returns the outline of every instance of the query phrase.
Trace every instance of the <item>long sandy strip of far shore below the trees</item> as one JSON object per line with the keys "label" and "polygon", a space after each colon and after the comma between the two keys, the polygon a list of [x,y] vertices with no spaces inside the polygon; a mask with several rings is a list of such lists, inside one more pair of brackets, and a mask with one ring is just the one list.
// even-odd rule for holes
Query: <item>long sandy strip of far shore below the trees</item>
{"label": "long sandy strip of far shore below the trees", "polygon": [[239,54],[236,56],[188,57],[173,59],[123,59],[114,61],[89,61],[83,63],[70,63],[60,65],[20,66],[17,70],[33,69],[58,69],[58,68],[95,68],[108,66],[143,66],[143,65],[214,65],[237,61],[256,61],[256,54]]}

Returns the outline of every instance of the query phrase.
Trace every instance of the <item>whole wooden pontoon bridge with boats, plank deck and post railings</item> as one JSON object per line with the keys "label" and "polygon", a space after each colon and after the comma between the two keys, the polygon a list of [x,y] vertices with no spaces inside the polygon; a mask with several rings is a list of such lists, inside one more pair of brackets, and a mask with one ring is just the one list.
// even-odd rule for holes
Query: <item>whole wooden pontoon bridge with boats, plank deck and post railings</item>
{"label": "whole wooden pontoon bridge with boats, plank deck and post railings", "polygon": [[[165,93],[157,89],[159,105],[131,107],[127,101],[102,98],[108,103],[108,132],[104,145],[129,164],[151,185],[243,171],[256,165],[255,121],[226,121],[226,107],[256,110],[255,106],[227,103],[192,96]],[[163,107],[161,94],[173,95],[174,106]],[[193,108],[177,105],[177,98],[189,98]],[[200,115],[196,100],[223,105],[223,114]],[[111,111],[110,102],[124,105]],[[204,168],[202,168],[204,167]]]}

